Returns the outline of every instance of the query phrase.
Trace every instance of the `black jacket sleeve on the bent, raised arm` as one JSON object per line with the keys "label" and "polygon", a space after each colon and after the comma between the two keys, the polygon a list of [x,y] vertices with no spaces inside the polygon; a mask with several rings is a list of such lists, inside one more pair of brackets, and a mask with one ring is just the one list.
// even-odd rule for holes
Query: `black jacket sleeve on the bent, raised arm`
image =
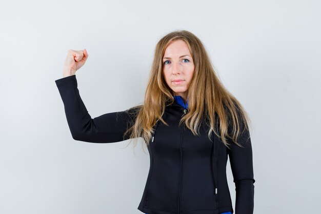
{"label": "black jacket sleeve on the bent, raised arm", "polygon": [[92,119],[77,89],[76,75],[55,81],[65,106],[72,138],[91,143],[114,143],[127,140],[124,133],[132,122],[129,111],[106,113]]}

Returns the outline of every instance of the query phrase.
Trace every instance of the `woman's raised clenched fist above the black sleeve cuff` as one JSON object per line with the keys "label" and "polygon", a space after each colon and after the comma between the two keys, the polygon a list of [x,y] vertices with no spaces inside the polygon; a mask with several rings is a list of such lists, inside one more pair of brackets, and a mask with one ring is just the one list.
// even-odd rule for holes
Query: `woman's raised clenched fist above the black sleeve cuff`
{"label": "woman's raised clenched fist above the black sleeve cuff", "polygon": [[81,68],[88,58],[87,50],[68,50],[64,65],[64,77],[71,76]]}

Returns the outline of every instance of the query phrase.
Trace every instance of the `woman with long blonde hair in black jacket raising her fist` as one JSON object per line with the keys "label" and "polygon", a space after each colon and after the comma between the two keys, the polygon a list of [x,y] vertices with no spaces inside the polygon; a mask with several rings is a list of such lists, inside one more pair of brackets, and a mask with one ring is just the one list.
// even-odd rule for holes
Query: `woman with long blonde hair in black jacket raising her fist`
{"label": "woman with long blonde hair in black jacket raising her fist", "polygon": [[220,83],[199,39],[174,31],[159,40],[144,104],[89,115],[75,72],[88,58],[69,50],[64,77],[56,80],[73,139],[112,143],[142,137],[150,169],[138,209],[148,214],[233,213],[226,178],[230,159],[235,211],[253,213],[254,175],[249,118]]}

